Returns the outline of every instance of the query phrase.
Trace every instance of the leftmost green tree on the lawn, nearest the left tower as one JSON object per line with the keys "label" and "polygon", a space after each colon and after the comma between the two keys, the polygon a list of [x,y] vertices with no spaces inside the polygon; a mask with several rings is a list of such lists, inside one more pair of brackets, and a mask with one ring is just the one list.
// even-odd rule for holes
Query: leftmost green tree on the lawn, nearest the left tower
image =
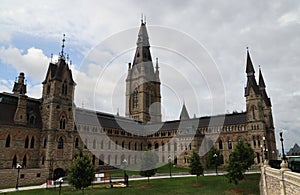
{"label": "leftmost green tree on the lawn, nearest the left tower", "polygon": [[95,168],[89,156],[84,155],[82,149],[74,158],[68,174],[68,181],[76,189],[81,189],[84,194],[84,189],[92,184],[95,174]]}

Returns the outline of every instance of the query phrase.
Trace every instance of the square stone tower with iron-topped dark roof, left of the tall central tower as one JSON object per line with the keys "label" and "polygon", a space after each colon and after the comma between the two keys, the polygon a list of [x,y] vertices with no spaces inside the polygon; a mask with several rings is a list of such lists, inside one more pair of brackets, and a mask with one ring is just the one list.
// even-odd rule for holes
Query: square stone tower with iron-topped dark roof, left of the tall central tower
{"label": "square stone tower with iron-topped dark roof, left of the tall central tower", "polygon": [[[43,81],[41,115],[46,162],[53,159],[53,168],[66,169],[73,158],[74,90],[76,83],[62,50],[56,63],[50,62]],[[68,57],[67,57],[68,58]],[[50,163],[51,164],[51,163]],[[48,166],[50,166],[50,164]]]}

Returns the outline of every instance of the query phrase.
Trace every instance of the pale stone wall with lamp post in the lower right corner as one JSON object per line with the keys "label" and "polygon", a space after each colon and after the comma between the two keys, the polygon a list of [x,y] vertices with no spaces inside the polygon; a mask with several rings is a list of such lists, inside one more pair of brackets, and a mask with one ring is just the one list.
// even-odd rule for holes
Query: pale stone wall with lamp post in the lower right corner
{"label": "pale stone wall with lamp post in the lower right corner", "polygon": [[287,163],[281,169],[271,168],[266,163],[261,167],[261,194],[297,195],[300,194],[300,173],[292,172]]}

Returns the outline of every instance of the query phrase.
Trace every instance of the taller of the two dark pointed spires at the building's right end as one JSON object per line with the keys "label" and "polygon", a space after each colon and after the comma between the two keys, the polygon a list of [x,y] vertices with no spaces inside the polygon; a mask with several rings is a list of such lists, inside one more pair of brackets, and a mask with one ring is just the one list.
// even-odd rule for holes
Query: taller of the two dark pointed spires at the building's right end
{"label": "taller of the two dark pointed spires at the building's right end", "polygon": [[247,73],[247,86],[245,87],[245,97],[250,94],[252,88],[255,94],[259,93],[259,88],[255,80],[255,71],[253,68],[252,60],[247,48],[247,62],[246,62],[246,73]]}

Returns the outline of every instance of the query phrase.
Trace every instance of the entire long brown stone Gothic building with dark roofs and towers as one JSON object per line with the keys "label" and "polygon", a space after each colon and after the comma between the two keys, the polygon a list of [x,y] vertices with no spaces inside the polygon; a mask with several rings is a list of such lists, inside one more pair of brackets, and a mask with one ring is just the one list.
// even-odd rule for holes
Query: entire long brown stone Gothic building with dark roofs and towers
{"label": "entire long brown stone Gothic building with dark roofs and towers", "polygon": [[[62,49],[58,62],[50,63],[40,99],[28,97],[25,74],[20,73],[13,93],[0,93],[0,173],[9,178],[17,163],[26,174],[44,181],[62,176],[83,148],[96,166],[138,164],[142,151],[157,152],[159,162],[171,157],[178,166],[188,166],[192,151],[205,153],[214,146],[223,161],[239,141],[255,152],[255,164],[266,156],[276,159],[271,100],[261,70],[255,70],[247,50],[246,111],[190,118],[185,105],[178,120],[162,122],[158,60],[153,65],[145,22],[138,33],[133,63],[128,64],[125,117],[74,105],[76,83]],[[214,122],[212,122],[214,121]],[[4,176],[4,177],[3,177]],[[2,185],[11,185],[4,183]]]}

